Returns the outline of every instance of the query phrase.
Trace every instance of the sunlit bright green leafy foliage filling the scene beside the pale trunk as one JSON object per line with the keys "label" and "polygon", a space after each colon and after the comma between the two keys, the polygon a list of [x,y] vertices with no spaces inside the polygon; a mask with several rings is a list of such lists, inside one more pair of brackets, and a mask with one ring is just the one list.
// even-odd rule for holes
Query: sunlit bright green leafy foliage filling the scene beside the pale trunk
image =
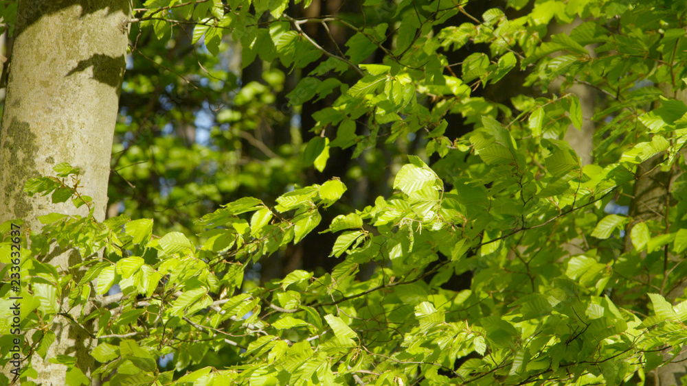
{"label": "sunlit bright green leafy foliage filling the scene beside the pale trunk", "polygon": [[[481,16],[448,0],[365,0],[334,16],[309,5],[146,1],[131,36],[148,61],[128,70],[113,178],[154,183],[128,200],[113,184],[123,213],[102,222],[41,217],[21,251],[25,353],[45,355],[52,315],[91,300],[73,322],[97,322],[106,385],[634,385],[681,352],[687,4],[508,0]],[[548,36],[554,21],[577,24]],[[343,45],[312,35],[335,27],[350,32]],[[161,54],[182,44],[194,55]],[[227,71],[238,52],[244,69],[262,61],[261,79]],[[513,82],[528,93],[480,94]],[[573,84],[598,93],[593,116]],[[585,121],[590,165],[563,141]],[[183,123],[206,138],[184,144],[170,134]],[[288,139],[271,149],[264,125]],[[357,162],[336,169],[346,176],[320,174],[341,154]],[[92,205],[78,168],[55,171],[27,194]],[[637,186],[655,173],[665,193],[651,206]],[[383,194],[352,196],[361,175]],[[315,230],[333,234],[333,269],[249,275]],[[82,254],[80,275],[42,263],[54,243]],[[69,385],[90,383],[72,357],[52,360]]]}

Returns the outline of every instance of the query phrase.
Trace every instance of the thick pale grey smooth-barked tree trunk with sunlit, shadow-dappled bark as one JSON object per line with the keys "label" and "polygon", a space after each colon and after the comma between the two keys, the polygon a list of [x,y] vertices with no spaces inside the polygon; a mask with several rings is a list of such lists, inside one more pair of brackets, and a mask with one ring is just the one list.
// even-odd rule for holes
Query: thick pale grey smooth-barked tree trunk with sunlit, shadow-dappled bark
{"label": "thick pale grey smooth-barked tree trunk with sunlit, shadow-dappled bark", "polygon": [[[23,232],[38,231],[39,215],[87,214],[86,206],[76,210],[71,202],[52,204],[49,196],[23,192],[28,178],[54,175],[59,162],[81,168],[82,193],[93,197],[95,218],[104,219],[130,14],[128,0],[19,1],[0,134],[0,223],[21,219]],[[51,263],[66,271],[80,255],[67,251]],[[78,316],[79,309],[69,310],[68,295],[58,300],[61,312]],[[57,339],[47,358],[74,355],[89,376],[89,334],[64,317],[52,322]],[[65,385],[65,365],[34,355],[32,366],[38,385]]]}

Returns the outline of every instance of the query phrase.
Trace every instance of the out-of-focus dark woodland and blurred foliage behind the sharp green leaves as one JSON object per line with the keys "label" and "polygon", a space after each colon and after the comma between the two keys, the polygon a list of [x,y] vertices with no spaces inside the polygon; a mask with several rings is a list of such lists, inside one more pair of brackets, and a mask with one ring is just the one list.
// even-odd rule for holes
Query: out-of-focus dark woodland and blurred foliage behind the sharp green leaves
{"label": "out-of-focus dark woodland and blurred foliage behind the sharp green leaves", "polygon": [[[295,19],[339,20],[331,23],[333,27],[328,30],[317,23],[304,25],[304,30],[324,49],[340,52],[356,34],[350,26],[388,25],[389,32],[403,29],[406,25],[402,21],[409,14],[414,15],[419,5],[407,1],[376,3],[376,8],[363,8],[361,0],[313,0],[308,8],[304,8],[305,3],[291,3],[286,13]],[[466,3],[464,14],[438,25],[428,24],[433,33],[423,34],[440,34],[445,27],[470,21],[470,14],[480,15],[495,7],[505,8],[506,2],[471,1]],[[365,12],[361,13],[363,9]],[[513,17],[525,12],[508,8]],[[173,13],[168,16],[174,19]],[[326,229],[326,224],[337,215],[374,204],[379,195],[390,195],[392,178],[405,162],[405,155],[425,156],[426,132],[394,136],[390,131],[379,133],[380,140],[369,147],[330,147],[326,166],[322,161],[322,165],[317,165],[306,149],[308,141],[318,135],[333,137],[333,133],[317,132],[321,129],[317,128],[313,114],[330,106],[340,91],[333,84],[330,95],[305,103],[304,98],[291,93],[317,67],[317,62],[303,69],[286,66],[280,60],[267,62],[256,53],[242,52],[241,45],[229,34],[222,36],[218,44],[214,42],[217,54],[213,54],[207,47],[207,36],[192,43],[193,27],[184,24],[157,38],[155,29],[141,28],[138,23],[131,26],[133,43],[113,145],[108,216],[155,219],[155,234],[172,230],[194,234],[201,230],[194,225],[194,219],[221,204],[246,196],[273,203],[275,197],[296,186],[322,184],[338,177],[348,186],[349,193],[324,213],[320,226],[306,242],[271,256],[268,263],[258,267],[260,275],[256,277],[264,280],[284,276],[297,268],[315,272],[331,269],[335,261],[326,256],[335,237],[317,232]],[[409,43],[387,40],[381,47],[363,47],[366,50],[359,53],[359,47],[349,47],[349,52],[376,63],[381,62],[385,49],[392,44]],[[475,52],[489,51],[486,44],[470,42],[455,47],[459,48],[436,49],[456,64]],[[359,60],[364,63],[364,58]],[[328,65],[339,74],[337,79],[349,86],[359,80],[359,75],[345,66],[341,68],[336,62]],[[503,85],[508,79],[498,88],[477,87],[466,108],[490,112],[494,108],[491,102],[505,102],[522,93],[523,74],[509,76],[515,79],[508,82],[513,85],[508,92],[504,93]],[[429,112],[438,99],[425,98],[420,102]],[[458,138],[470,130],[466,125],[472,122],[464,122],[460,111],[449,111],[445,118],[449,122],[445,135],[449,138]],[[357,132],[365,135],[367,130],[369,134],[369,128],[361,121],[357,125]],[[439,159],[436,155],[435,158]],[[441,169],[441,165],[437,167]]]}

